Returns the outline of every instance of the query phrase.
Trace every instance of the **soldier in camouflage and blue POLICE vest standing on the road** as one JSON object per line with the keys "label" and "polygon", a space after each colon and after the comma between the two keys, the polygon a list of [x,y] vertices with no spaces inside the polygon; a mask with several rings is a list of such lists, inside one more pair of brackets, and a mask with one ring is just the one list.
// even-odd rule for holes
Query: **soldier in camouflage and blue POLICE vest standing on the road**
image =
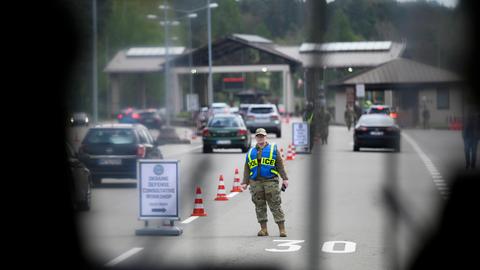
{"label": "soldier in camouflage and blue POLICE vest standing on the road", "polygon": [[285,215],[283,214],[279,188],[279,176],[282,185],[288,187],[288,177],[283,166],[282,156],[278,147],[266,141],[267,132],[259,128],[255,132],[257,145],[252,147],[246,157],[242,188],[250,185],[252,201],[255,204],[260,231],[258,236],[268,236],[267,203],[272,211],[275,223],[278,224],[280,237],[286,237]]}

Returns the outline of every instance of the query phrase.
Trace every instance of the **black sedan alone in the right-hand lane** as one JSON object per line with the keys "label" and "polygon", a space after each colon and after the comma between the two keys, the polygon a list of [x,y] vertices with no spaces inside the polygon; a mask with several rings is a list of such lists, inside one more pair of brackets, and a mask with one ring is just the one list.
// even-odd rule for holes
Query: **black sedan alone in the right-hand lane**
{"label": "black sedan alone in the right-hand lane", "polygon": [[364,114],[353,133],[353,151],[362,147],[393,148],[400,152],[400,128],[386,114]]}

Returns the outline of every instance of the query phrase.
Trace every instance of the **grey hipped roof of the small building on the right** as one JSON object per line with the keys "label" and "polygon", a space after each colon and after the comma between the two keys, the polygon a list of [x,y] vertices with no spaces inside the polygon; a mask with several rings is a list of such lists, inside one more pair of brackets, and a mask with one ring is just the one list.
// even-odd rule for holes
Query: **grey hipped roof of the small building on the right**
{"label": "grey hipped roof of the small building on the right", "polygon": [[349,75],[331,86],[460,83],[462,79],[448,70],[398,58],[378,67]]}

